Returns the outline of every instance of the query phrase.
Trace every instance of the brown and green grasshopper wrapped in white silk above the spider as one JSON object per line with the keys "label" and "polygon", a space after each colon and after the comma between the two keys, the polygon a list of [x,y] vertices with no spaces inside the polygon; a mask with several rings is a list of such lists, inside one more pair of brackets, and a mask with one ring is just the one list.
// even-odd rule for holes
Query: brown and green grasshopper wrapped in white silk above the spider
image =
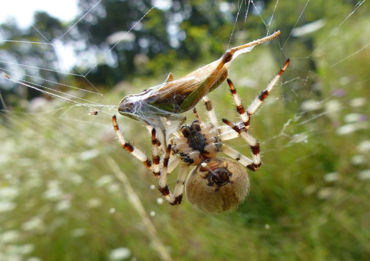
{"label": "brown and green grasshopper wrapped in white silk above the spider", "polygon": [[160,139],[164,141],[163,144],[167,144],[168,136],[177,131],[186,120],[181,113],[193,108],[204,95],[226,80],[232,59],[279,35],[280,31],[276,31],[259,40],[230,48],[220,59],[178,80],[174,80],[173,74],[170,73],[161,85],[124,97],[119,103],[118,112],[161,130],[163,137]]}

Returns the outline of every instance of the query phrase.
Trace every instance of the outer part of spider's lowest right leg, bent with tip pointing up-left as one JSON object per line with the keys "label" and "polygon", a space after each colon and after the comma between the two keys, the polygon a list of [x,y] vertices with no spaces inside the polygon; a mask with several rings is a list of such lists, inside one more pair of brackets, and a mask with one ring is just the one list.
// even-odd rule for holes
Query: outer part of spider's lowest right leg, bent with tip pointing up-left
{"label": "outer part of spider's lowest right leg, bent with tip pointing up-left", "polygon": [[244,139],[244,141],[251,147],[253,163],[252,166],[247,166],[247,168],[252,171],[256,171],[261,166],[261,156],[259,154],[259,142],[247,131],[241,130],[239,127],[232,124],[230,121],[222,119],[222,122],[230,126],[234,131],[236,131],[238,135],[241,136]]}

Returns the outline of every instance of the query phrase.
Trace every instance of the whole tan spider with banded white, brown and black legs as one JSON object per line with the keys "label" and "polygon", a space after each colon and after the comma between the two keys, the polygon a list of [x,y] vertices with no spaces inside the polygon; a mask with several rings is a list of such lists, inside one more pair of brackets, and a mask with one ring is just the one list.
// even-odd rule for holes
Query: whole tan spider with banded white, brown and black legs
{"label": "whole tan spider with banded white, brown and black legs", "polygon": [[[233,83],[227,79],[237,113],[242,120],[237,124],[222,119],[225,125],[219,126],[212,102],[206,95],[203,101],[208,114],[208,122],[203,122],[194,108],[193,113],[196,119],[183,125],[180,133],[175,132],[167,148],[161,148],[156,130],[152,128],[152,161],[142,151],[126,141],[115,115],[112,119],[114,130],[122,147],[153,172],[158,179],[160,193],[170,205],[181,204],[185,187],[187,200],[203,212],[213,214],[235,210],[244,201],[249,191],[250,180],[246,168],[257,171],[261,166],[259,142],[249,134],[251,117],[268,96],[289,63],[288,59],[247,110],[244,109]],[[252,158],[244,156],[223,143],[223,141],[236,137],[241,137],[251,148]],[[160,156],[162,150],[164,155]],[[232,159],[217,157],[219,152],[223,152]],[[174,191],[171,192],[167,184],[167,176],[179,164],[181,167],[177,182]],[[186,179],[190,166],[195,166],[195,168]]]}

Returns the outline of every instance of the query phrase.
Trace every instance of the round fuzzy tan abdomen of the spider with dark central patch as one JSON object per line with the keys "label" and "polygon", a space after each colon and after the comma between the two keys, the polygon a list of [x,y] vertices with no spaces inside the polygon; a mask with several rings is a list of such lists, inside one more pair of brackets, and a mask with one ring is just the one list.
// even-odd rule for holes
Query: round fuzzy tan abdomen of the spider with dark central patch
{"label": "round fuzzy tan abdomen of the spider with dark central patch", "polygon": [[[207,165],[206,165],[207,164]],[[206,213],[236,209],[249,191],[249,176],[238,162],[213,158],[198,165],[187,177],[187,200]]]}

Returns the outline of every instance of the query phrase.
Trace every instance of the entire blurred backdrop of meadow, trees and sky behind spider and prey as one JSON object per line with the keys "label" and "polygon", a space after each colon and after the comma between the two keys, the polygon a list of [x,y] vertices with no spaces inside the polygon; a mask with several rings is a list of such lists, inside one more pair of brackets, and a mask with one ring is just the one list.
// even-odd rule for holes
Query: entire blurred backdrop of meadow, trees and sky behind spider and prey
{"label": "entire blurred backdrop of meadow, trees and sky behind spider and prey", "polygon": [[[369,260],[369,12],[366,0],[3,5],[0,261]],[[163,203],[115,139],[119,101],[275,30],[229,70],[247,106],[291,58],[253,117],[263,165],[248,198],[216,216]],[[238,120],[226,83],[210,98]],[[118,121],[150,155],[142,123]]]}

